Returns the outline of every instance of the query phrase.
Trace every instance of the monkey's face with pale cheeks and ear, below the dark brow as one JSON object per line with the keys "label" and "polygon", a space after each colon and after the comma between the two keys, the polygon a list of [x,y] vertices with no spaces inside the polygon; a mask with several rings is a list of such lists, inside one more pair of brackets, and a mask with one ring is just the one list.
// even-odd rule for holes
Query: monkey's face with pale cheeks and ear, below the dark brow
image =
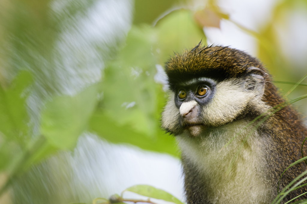
{"label": "monkey's face with pale cheeks and ear, below the dark brow", "polygon": [[174,85],[162,113],[162,127],[174,135],[196,137],[244,117],[250,107],[263,109],[265,79],[258,69],[250,70],[240,78],[200,77]]}

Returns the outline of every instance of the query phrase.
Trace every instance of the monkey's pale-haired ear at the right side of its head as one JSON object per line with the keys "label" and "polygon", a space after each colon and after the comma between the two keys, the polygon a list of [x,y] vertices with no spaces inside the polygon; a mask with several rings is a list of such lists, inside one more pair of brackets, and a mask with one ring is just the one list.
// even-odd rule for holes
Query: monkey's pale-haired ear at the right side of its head
{"label": "monkey's pale-haired ear at the right side of its head", "polygon": [[255,92],[257,98],[261,98],[264,93],[267,76],[269,75],[258,67],[249,67],[245,76],[245,89]]}

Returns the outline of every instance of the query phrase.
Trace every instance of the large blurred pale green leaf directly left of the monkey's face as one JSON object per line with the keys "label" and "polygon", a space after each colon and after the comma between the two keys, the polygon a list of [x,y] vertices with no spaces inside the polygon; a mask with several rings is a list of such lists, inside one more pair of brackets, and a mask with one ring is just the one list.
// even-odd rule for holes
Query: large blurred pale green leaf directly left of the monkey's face
{"label": "large blurred pale green leaf directly left of the monkey's face", "polygon": [[103,109],[119,124],[149,136],[159,127],[155,113],[161,87],[154,81],[157,59],[151,50],[155,38],[153,28],[133,27],[118,59],[105,69],[103,82]]}

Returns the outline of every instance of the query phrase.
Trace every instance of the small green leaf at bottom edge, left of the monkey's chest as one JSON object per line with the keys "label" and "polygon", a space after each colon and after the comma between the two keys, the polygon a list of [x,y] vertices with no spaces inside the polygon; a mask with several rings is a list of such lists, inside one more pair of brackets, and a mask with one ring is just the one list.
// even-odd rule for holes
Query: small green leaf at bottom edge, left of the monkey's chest
{"label": "small green leaf at bottom edge, left of the monkey's chest", "polygon": [[168,192],[165,192],[161,189],[157,189],[155,187],[148,186],[148,185],[132,186],[130,188],[127,188],[125,191],[134,192],[139,195],[147,196],[150,198],[161,199],[161,200],[173,202],[176,204],[183,204],[182,202],[180,202],[177,198],[175,198],[173,195],[169,194]]}

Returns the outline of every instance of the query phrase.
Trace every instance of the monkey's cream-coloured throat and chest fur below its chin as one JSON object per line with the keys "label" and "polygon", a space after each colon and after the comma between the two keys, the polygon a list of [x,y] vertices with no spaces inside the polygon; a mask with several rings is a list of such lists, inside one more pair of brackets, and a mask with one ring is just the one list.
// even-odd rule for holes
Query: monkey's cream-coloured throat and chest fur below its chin
{"label": "monkey's cream-coloured throat and chest fur below its chin", "polygon": [[[264,141],[267,137],[257,131],[251,132],[251,127],[243,130],[246,125],[246,121],[240,120],[208,128],[197,138],[185,134],[177,137],[182,151],[188,203],[197,203],[199,199],[197,195],[188,195],[197,191],[187,189],[193,187],[203,191],[199,193],[200,200],[205,199],[207,203],[271,201],[274,193],[266,176],[264,157],[265,144],[269,141]],[[231,139],[233,141],[224,147]],[[199,178],[193,181],[194,185],[189,184],[189,178],[196,176],[189,175],[191,172]]]}

